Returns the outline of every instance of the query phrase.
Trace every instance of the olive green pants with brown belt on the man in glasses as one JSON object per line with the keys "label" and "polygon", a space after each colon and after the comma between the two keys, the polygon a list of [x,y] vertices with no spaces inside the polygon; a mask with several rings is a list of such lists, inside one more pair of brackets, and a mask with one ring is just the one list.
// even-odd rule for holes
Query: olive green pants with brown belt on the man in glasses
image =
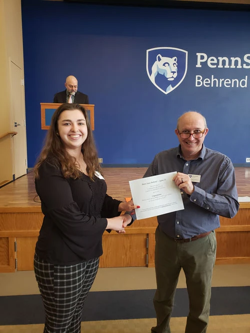
{"label": "olive green pants with brown belt on the man in glasses", "polygon": [[189,314],[185,333],[205,333],[208,325],[211,278],[216,256],[215,232],[188,243],[176,243],[155,231],[155,274],[157,290],[153,305],[157,324],[151,332],[170,333],[169,321],[181,268],[186,278]]}

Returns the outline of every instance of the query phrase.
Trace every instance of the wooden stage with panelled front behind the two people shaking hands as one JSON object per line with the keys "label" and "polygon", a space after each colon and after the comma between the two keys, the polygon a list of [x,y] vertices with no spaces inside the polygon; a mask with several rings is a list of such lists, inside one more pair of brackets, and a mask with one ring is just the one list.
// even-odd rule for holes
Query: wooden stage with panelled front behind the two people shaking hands
{"label": "wooden stage with panelled front behind the two people shaking hands", "polygon": [[[129,180],[141,178],[146,168],[104,168],[108,194],[129,197]],[[250,169],[235,168],[239,196],[250,196]],[[0,272],[33,270],[35,243],[43,215],[32,173],[0,189]],[[136,203],[135,203],[136,204]],[[220,218],[216,230],[216,264],[250,263],[250,202],[241,203],[233,219]],[[156,218],[135,221],[126,234],[105,232],[100,267],[154,266]]]}

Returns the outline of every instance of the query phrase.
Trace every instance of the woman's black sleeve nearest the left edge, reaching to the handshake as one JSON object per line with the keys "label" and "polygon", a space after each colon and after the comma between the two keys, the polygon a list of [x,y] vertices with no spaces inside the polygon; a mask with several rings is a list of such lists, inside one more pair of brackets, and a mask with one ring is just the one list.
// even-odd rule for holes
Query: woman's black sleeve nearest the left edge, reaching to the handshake
{"label": "woman's black sleeve nearest the left edge, reaching to the handshake", "polygon": [[68,181],[61,171],[48,163],[39,168],[39,179],[35,180],[36,192],[40,197],[42,212],[67,238],[80,240],[81,236],[99,236],[104,232],[107,221],[81,212],[73,201]]}

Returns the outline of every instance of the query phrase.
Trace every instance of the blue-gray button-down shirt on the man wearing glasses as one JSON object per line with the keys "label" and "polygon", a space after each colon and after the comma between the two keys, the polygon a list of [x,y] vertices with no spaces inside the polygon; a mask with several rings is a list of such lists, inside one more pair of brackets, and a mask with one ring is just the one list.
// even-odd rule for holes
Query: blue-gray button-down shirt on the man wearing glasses
{"label": "blue-gray button-down shirt on the man wearing glasses", "polygon": [[181,191],[184,210],[157,216],[160,229],[172,238],[191,238],[219,227],[219,217],[232,218],[239,204],[235,173],[230,159],[204,144],[195,160],[186,161],[180,146],[158,153],[144,177],[167,172],[200,175],[189,196]]}

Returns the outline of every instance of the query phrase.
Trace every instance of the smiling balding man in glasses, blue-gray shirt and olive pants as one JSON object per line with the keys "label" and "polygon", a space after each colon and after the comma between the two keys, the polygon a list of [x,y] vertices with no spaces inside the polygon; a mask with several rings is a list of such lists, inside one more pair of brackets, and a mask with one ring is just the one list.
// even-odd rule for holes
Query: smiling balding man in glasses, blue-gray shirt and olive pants
{"label": "smiling balding man in glasses, blue-gray shirt and olive pants", "polygon": [[179,146],[158,153],[144,175],[177,171],[173,181],[184,205],[184,210],[157,216],[153,299],[157,324],[151,332],[170,333],[181,268],[189,297],[185,333],[205,333],[207,329],[216,256],[214,229],[219,227],[219,215],[232,218],[239,208],[233,165],[227,156],[204,146],[207,132],[200,113],[184,113],[175,129]]}

